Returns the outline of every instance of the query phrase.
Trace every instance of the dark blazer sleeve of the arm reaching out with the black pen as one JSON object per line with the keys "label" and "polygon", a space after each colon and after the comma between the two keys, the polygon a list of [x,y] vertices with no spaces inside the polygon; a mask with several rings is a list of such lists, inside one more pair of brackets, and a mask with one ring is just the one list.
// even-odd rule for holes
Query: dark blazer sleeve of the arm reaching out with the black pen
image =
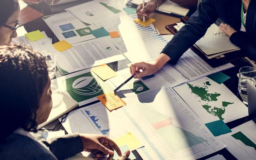
{"label": "dark blazer sleeve of the arm reaching out with the black pen", "polygon": [[203,37],[209,26],[218,19],[214,2],[202,0],[197,11],[163,49],[161,53],[171,58],[169,63],[176,64],[182,54]]}

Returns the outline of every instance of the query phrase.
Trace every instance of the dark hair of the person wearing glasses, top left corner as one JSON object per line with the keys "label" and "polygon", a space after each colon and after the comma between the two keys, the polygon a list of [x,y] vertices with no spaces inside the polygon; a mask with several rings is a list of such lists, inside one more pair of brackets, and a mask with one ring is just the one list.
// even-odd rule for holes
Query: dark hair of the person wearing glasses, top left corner
{"label": "dark hair of the person wearing glasses, top left corner", "polygon": [[18,0],[0,0],[0,4],[0,26],[3,26],[20,6]]}

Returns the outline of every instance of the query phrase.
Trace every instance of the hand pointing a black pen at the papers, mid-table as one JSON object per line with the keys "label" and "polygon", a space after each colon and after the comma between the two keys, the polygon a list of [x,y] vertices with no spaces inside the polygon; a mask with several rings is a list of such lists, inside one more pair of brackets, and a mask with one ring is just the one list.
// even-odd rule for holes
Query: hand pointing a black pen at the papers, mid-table
{"label": "hand pointing a black pen at the papers, mid-table", "polygon": [[[134,75],[134,78],[141,78],[154,74],[159,69],[160,68],[156,62],[139,62],[131,64],[130,73],[131,75],[134,75],[137,72],[137,74]],[[142,70],[142,72],[140,72],[140,70]]]}

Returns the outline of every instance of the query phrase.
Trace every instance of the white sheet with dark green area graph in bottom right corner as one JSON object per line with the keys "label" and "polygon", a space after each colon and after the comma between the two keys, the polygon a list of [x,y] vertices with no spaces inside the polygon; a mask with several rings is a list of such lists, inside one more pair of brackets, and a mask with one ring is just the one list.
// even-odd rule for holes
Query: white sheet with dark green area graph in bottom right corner
{"label": "white sheet with dark green area graph in bottom right corner", "polygon": [[226,149],[238,160],[256,160],[256,123],[250,120],[231,130],[219,136]]}

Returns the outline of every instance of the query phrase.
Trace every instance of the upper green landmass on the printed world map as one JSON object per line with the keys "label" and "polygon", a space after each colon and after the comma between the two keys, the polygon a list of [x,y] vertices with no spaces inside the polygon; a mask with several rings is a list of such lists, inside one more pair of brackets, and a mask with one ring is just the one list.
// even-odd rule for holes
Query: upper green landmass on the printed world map
{"label": "upper green landmass on the printed world map", "polygon": [[204,83],[203,87],[199,87],[199,86],[194,86],[191,85],[189,83],[187,83],[189,88],[191,89],[191,92],[194,93],[195,95],[197,95],[198,97],[201,98],[201,100],[204,101],[217,101],[217,97],[220,96],[221,94],[219,93],[208,93],[208,91],[206,90],[208,87],[207,86],[211,86],[211,84],[207,81],[206,83]]}

